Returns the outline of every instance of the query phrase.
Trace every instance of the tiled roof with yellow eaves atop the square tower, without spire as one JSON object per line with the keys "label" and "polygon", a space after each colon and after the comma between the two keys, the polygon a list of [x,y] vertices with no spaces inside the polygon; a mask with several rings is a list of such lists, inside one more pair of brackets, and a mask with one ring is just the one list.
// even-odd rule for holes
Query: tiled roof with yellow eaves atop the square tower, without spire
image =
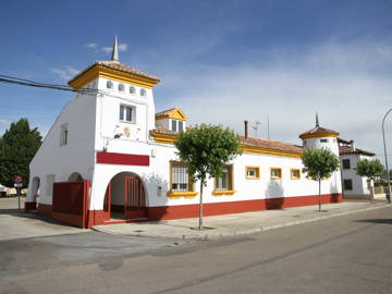
{"label": "tiled roof with yellow eaves atop the square tower, without spire", "polygon": [[69,81],[68,84],[71,87],[81,88],[99,76],[147,88],[152,88],[161,81],[156,75],[138,71],[118,61],[108,60],[96,61]]}

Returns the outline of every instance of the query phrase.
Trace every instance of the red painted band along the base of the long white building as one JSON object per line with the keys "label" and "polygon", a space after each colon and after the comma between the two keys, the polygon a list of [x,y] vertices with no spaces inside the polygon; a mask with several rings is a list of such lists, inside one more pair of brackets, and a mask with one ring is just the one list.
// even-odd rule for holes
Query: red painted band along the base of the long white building
{"label": "red painted band along the base of the long white building", "polygon": [[[313,196],[257,199],[257,200],[244,200],[244,201],[232,201],[232,203],[205,204],[204,215],[208,217],[208,216],[219,216],[219,215],[229,215],[229,213],[260,211],[268,209],[281,209],[281,208],[298,207],[298,206],[311,206],[318,204],[318,197],[319,197],[318,195],[313,195]],[[321,204],[333,204],[333,203],[342,203],[342,201],[343,201],[342,194],[321,195]],[[38,213],[53,218],[59,221],[65,221],[66,223],[72,223],[74,225],[77,225],[77,223],[81,222],[78,216],[70,216],[70,215],[60,216],[62,213],[52,212],[51,205],[39,204]],[[149,221],[197,218],[198,215],[199,215],[199,206],[197,204],[180,205],[180,206],[160,206],[160,207],[148,208]],[[123,221],[121,220],[121,221],[110,222],[109,218],[110,216],[107,211],[88,210],[86,226],[91,228],[98,224],[135,222],[135,220],[123,220]]]}

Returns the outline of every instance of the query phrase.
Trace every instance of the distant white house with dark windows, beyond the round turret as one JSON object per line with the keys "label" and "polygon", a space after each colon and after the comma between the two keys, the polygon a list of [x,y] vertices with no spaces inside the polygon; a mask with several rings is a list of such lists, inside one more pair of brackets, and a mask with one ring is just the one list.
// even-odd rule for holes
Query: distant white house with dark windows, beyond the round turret
{"label": "distant white house with dark windows, beyond the round turret", "polygon": [[355,148],[354,140],[338,138],[338,143],[344,198],[368,198],[370,196],[368,179],[356,174],[356,166],[362,159],[371,160],[375,154]]}

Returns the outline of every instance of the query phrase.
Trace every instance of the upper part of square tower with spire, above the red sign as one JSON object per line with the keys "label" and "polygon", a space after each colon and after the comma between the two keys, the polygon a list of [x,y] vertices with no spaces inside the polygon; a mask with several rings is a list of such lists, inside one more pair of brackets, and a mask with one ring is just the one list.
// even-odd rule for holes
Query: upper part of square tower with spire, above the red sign
{"label": "upper part of square tower with spire, above the red sign", "polygon": [[[147,142],[155,128],[152,89],[159,82],[158,76],[120,62],[119,40],[114,36],[110,60],[96,61],[69,81],[69,85],[75,89],[94,89],[99,98],[97,110],[101,111],[105,105],[105,111],[96,113],[101,120],[98,125],[102,140],[122,134],[130,140]],[[88,99],[91,95],[78,97]],[[100,144],[106,146],[103,142]]]}

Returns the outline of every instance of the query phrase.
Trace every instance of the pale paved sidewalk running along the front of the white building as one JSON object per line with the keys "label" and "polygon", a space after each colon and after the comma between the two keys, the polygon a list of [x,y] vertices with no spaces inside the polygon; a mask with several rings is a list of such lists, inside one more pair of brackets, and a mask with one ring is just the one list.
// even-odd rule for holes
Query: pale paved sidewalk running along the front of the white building
{"label": "pale paved sidewalk running along the front of the white building", "polygon": [[387,201],[375,201],[369,204],[368,201],[346,200],[341,204],[322,205],[321,212],[318,211],[318,206],[306,206],[205,217],[204,225],[209,229],[203,231],[195,230],[198,225],[198,218],[160,222],[96,225],[93,229],[103,233],[130,236],[207,240],[250,234],[382,207],[391,207],[391,205]]}

